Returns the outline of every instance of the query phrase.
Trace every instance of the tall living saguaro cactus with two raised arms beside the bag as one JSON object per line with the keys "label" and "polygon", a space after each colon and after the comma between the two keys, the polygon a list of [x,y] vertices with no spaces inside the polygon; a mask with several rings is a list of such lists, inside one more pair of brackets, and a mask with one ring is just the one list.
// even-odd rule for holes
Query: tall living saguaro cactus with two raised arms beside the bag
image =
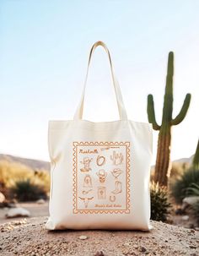
{"label": "tall living saguaro cactus with two raised arms beside the bag", "polygon": [[159,131],[158,151],[156,158],[154,182],[167,186],[169,177],[169,155],[171,141],[171,127],[183,121],[190,106],[191,95],[187,94],[180,113],[173,119],[173,74],[174,53],[169,52],[166,86],[164,94],[164,107],[162,124],[156,122],[153,95],[148,95],[148,122],[153,124],[153,129]]}

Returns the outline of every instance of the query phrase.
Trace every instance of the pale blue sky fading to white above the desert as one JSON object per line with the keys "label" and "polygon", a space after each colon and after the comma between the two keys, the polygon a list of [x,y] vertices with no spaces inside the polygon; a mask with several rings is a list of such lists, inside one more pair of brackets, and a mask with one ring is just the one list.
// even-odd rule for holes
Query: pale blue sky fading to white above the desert
{"label": "pale blue sky fading to white above the desert", "polygon": [[[199,136],[199,2],[0,2],[0,152],[48,160],[48,120],[72,119],[89,49],[105,41],[128,117],[148,122],[153,94],[160,123],[167,56],[175,52],[174,117],[187,92],[191,107],[173,128],[172,159],[194,153]],[[90,68],[84,118],[118,119],[105,52]],[[154,132],[154,157],[157,134]]]}

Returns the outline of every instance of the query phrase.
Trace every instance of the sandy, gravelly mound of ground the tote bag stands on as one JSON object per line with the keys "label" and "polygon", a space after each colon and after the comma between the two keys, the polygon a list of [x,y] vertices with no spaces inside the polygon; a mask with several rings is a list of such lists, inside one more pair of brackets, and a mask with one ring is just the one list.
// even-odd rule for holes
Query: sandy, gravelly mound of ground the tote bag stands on
{"label": "sandy, gravelly mound of ground the tote bag stands on", "polygon": [[199,255],[199,231],[162,222],[152,221],[151,232],[46,231],[46,220],[1,224],[0,255]]}

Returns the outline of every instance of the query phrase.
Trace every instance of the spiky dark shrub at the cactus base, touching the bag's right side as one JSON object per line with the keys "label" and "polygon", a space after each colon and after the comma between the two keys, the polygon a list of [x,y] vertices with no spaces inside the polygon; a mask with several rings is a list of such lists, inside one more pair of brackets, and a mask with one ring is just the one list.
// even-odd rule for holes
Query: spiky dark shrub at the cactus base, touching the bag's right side
{"label": "spiky dark shrub at the cactus base, touching the bag's right side", "polygon": [[159,187],[154,182],[151,184],[151,220],[166,221],[169,214],[170,204],[166,188]]}

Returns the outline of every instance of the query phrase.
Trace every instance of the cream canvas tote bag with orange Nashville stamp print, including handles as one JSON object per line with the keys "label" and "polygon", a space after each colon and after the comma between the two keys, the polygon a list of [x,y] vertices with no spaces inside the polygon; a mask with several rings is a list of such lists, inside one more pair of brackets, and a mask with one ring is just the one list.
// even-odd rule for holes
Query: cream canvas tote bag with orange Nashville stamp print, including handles
{"label": "cream canvas tote bag with orange Nashville stamp print, including handles", "polygon": [[149,230],[152,126],[127,119],[108,53],[120,120],[83,120],[83,94],[73,120],[50,121],[50,217],[46,228]]}

